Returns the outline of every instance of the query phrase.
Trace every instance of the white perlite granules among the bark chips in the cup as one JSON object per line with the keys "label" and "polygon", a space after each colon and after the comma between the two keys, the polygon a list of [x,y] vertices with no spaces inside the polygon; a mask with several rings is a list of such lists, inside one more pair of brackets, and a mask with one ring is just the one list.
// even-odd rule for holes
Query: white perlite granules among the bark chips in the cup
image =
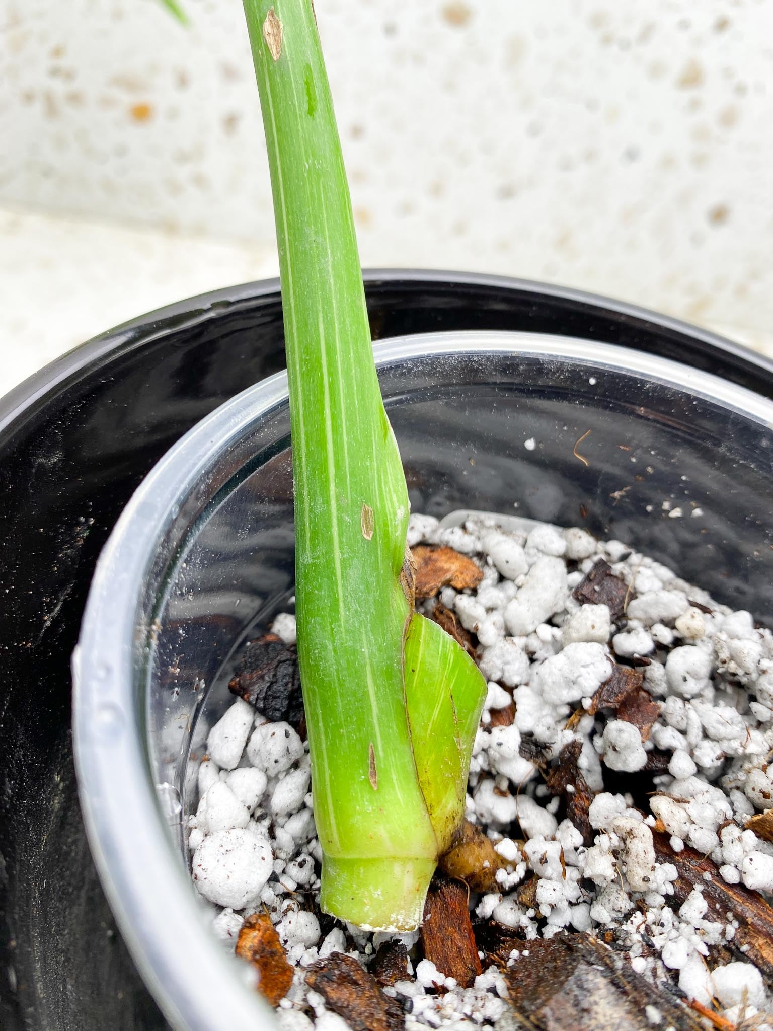
{"label": "white perlite granules among the bark chips in the cup", "polygon": [[[708,856],[727,884],[773,894],[773,845],[745,829],[754,812],[773,808],[770,632],[660,563],[582,529],[520,532],[482,517],[445,528],[412,516],[408,543],[422,542],[456,547],[483,570],[477,591],[444,588],[439,599],[477,636],[489,681],[466,814],[507,866],[498,891],[471,895],[473,919],[496,920],[523,939],[511,965],[538,936],[611,933],[653,984],[668,979],[732,1023],[753,1018],[773,1031],[773,1019],[760,1016],[770,997],[757,967],[712,959],[714,946],[732,947],[733,920],[709,907],[703,885],[676,905],[677,869],[658,860],[652,831],[658,821],[674,854]],[[621,617],[574,597],[600,559],[626,585]],[[434,604],[423,603],[425,614]],[[271,629],[295,643],[291,613]],[[614,663],[643,670],[642,688],[659,706],[653,725],[640,729],[625,710],[592,705]],[[567,746],[577,757],[575,779],[581,774],[594,795],[584,841],[567,810],[575,784],[553,797],[540,772]],[[278,1011],[284,1031],[346,1031],[308,991],[305,968],[336,952],[367,967],[392,935],[342,924],[323,935],[311,911],[322,851],[309,787],[308,745],[297,729],[237,699],[211,727],[199,767],[198,807],[188,819],[192,874],[216,907],[212,929],[226,947],[234,949],[244,916],[270,913],[296,967]],[[406,1031],[473,1022],[507,1031],[501,972],[491,967],[462,990],[422,955],[417,934],[402,940],[411,976],[386,992],[409,1000]],[[646,1017],[661,1026],[656,1006]]]}

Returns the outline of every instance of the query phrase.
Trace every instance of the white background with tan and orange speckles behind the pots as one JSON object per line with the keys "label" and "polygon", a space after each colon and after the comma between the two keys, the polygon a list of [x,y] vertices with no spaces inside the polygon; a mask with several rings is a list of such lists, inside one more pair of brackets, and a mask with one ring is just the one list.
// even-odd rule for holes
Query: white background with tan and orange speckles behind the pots
{"label": "white background with tan and orange speckles behind the pots", "polygon": [[[189,28],[155,0],[0,8],[0,392],[275,272],[241,4],[183,5]],[[365,265],[568,284],[773,353],[770,0],[316,11]]]}

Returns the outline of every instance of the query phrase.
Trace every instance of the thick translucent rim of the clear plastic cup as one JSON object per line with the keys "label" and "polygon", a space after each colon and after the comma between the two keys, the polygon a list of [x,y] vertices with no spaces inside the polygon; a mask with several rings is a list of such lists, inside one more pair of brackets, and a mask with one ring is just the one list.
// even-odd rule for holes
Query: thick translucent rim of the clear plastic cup
{"label": "thick translucent rim of the clear plastic cup", "polygon": [[[377,366],[421,356],[554,357],[589,370],[617,369],[718,400],[773,426],[773,401],[711,373],[580,338],[460,331],[394,337],[374,345]],[[137,598],[166,514],[212,458],[257,419],[287,401],[287,373],[248,388],[194,426],[152,469],[119,519],[97,563],[73,653],[73,741],[78,794],[92,853],[111,908],[145,982],[171,1023],[191,1031],[254,1031],[275,1019],[239,976],[205,926],[147,776],[133,698]],[[134,860],[141,841],[140,868]],[[130,914],[131,910],[131,914]],[[174,914],[170,927],[164,914]],[[195,976],[196,971],[207,976]],[[212,993],[219,978],[223,993]]]}

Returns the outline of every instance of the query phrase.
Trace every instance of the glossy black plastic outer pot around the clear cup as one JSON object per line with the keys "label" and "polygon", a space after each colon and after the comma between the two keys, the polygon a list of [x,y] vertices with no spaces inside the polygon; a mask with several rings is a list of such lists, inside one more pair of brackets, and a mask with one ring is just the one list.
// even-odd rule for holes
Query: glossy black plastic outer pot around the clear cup
{"label": "glossy black plastic outer pot around the clear cup", "polygon": [[[367,284],[375,337],[459,329],[591,337],[773,397],[773,363],[628,305],[445,273],[371,273]],[[0,400],[0,1023],[9,1031],[163,1026],[83,837],[69,655],[97,556],[140,479],[195,422],[282,366],[278,290],[268,282],[128,324]]]}

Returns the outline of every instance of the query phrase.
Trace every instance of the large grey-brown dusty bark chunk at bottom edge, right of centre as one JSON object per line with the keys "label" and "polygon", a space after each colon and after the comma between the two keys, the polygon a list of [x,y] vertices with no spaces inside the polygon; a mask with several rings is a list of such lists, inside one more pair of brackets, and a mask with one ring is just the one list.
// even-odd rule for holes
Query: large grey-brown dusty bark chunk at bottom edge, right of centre
{"label": "large grey-brown dusty bark chunk at bottom edge, right of centre", "polygon": [[659,1026],[703,1028],[697,1013],[590,934],[559,934],[515,947],[522,949],[520,958],[505,970],[515,1028],[651,1031],[650,1006],[661,1017]]}

